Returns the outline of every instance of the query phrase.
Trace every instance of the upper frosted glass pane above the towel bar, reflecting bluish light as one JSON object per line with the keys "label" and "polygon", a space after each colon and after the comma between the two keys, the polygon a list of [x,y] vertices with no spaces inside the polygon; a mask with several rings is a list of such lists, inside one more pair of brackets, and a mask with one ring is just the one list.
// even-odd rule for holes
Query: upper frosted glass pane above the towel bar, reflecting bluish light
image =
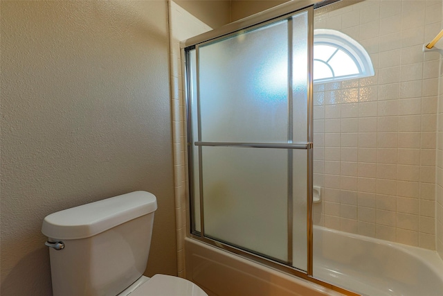
{"label": "upper frosted glass pane above the towel bar, reflecting bluish light", "polygon": [[201,141],[287,142],[287,20],[199,47]]}

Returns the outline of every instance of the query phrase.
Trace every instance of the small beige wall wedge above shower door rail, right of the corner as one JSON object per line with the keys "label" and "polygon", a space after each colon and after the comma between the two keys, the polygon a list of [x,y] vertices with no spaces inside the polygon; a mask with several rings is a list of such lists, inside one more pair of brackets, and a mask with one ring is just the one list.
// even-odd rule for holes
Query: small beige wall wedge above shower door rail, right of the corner
{"label": "small beige wall wedge above shower door rail, right of the corner", "polygon": [[273,8],[288,0],[232,0],[230,4],[230,21],[237,21],[257,12]]}

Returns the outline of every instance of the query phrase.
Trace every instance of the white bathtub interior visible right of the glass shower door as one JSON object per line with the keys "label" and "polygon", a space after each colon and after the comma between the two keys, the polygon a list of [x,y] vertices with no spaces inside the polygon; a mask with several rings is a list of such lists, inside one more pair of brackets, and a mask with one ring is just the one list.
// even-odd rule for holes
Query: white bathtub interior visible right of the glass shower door
{"label": "white bathtub interior visible right of the glass shower door", "polygon": [[443,293],[443,262],[436,252],[318,226],[314,277],[362,295]]}

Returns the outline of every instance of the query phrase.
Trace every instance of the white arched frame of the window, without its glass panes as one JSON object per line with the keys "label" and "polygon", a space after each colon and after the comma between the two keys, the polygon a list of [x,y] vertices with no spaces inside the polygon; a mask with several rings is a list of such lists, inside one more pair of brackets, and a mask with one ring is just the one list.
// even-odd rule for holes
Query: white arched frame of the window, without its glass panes
{"label": "white arched frame of the window, without its glass panes", "polygon": [[[352,39],[350,36],[345,35],[344,33],[330,30],[330,29],[316,29],[314,30],[314,50],[316,45],[328,45],[335,47],[336,49],[340,49],[347,53],[350,58],[354,61],[359,73],[345,75],[345,76],[332,76],[327,78],[315,79],[314,83],[325,83],[325,82],[334,82],[334,81],[343,81],[354,78],[364,78],[369,76],[374,76],[374,67],[372,67],[372,61],[368,54],[368,52],[356,42],[356,40]],[[323,60],[315,59],[317,62],[323,62],[324,64],[331,69],[334,74],[334,69],[327,64],[327,62]]]}

